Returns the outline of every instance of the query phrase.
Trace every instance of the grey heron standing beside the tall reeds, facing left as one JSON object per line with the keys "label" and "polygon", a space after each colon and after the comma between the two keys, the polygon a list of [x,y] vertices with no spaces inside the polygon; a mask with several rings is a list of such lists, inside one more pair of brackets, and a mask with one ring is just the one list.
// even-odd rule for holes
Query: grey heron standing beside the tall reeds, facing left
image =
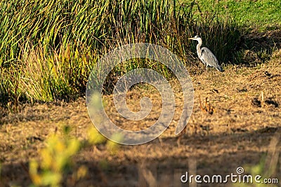
{"label": "grey heron standing beside the tall reeds, facing left", "polygon": [[208,48],[205,48],[205,47],[201,48],[202,39],[200,38],[200,36],[194,36],[193,38],[189,38],[189,40],[198,41],[198,44],[196,46],[197,55],[200,58],[200,60],[203,62],[203,64],[206,65],[207,70],[208,70],[208,66],[209,66],[209,67],[214,67],[214,68],[218,69],[218,71],[221,71],[221,72],[224,71],[223,68],[218,63],[216,56],[213,53],[211,53],[211,50],[209,50]]}

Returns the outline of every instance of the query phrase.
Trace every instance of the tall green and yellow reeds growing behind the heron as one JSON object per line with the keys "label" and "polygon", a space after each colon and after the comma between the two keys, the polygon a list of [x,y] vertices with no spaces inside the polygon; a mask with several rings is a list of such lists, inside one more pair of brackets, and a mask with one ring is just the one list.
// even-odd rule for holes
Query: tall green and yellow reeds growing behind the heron
{"label": "tall green and yellow reeds growing behind the heron", "polygon": [[[195,43],[202,35],[218,60],[231,59],[240,34],[235,22],[216,14],[194,17],[195,1],[175,0],[0,0],[0,99],[4,104],[84,95],[87,78],[98,59],[128,43],[164,46],[183,59],[195,60]],[[215,22],[207,21],[211,16]],[[137,64],[134,64],[137,63]],[[139,63],[139,64],[138,64]],[[155,62],[127,62],[134,67],[164,71]],[[105,85],[106,87],[106,85]]]}

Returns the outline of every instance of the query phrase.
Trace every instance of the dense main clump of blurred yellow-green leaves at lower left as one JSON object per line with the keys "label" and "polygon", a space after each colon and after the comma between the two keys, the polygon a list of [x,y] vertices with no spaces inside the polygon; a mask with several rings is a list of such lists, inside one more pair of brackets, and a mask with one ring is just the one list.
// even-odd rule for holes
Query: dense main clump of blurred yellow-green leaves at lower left
{"label": "dense main clump of blurred yellow-green leaves at lower left", "polygon": [[[72,156],[79,151],[80,142],[76,138],[53,135],[46,140],[46,148],[39,155],[41,162],[30,161],[30,178],[34,186],[58,186],[65,173],[72,167]],[[77,177],[84,176],[86,168],[79,167]]]}

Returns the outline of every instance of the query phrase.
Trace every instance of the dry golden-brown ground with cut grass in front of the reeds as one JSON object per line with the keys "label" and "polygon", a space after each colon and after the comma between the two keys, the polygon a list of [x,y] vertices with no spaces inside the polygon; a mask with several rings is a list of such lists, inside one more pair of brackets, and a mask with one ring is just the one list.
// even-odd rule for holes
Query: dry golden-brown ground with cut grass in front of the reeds
{"label": "dry golden-brown ground with cut grass in front of the reeds", "polygon": [[[277,166],[270,177],[281,183],[281,50],[256,67],[229,65],[223,73],[205,71],[204,67],[198,71],[191,76],[194,108],[183,133],[174,134],[182,109],[182,93],[174,81],[176,113],[164,134],[148,144],[119,146],[114,154],[105,144],[86,146],[75,160],[78,165],[86,165],[89,173],[75,186],[182,186],[180,176],[186,171],[226,175],[244,167],[249,173],[255,165],[263,165],[262,158],[266,159],[263,172]],[[152,125],[162,107],[157,91],[136,88],[127,93],[127,102],[129,108],[137,110],[138,99],[144,95],[152,99],[154,108],[142,123],[116,116],[111,95],[105,97],[109,116],[121,127],[133,130]],[[64,125],[70,125],[72,134],[81,140],[92,127],[84,98],[26,105],[20,113],[1,118],[0,124],[0,186],[27,186],[31,182],[28,161],[38,158],[44,140],[54,132],[60,133]]]}

